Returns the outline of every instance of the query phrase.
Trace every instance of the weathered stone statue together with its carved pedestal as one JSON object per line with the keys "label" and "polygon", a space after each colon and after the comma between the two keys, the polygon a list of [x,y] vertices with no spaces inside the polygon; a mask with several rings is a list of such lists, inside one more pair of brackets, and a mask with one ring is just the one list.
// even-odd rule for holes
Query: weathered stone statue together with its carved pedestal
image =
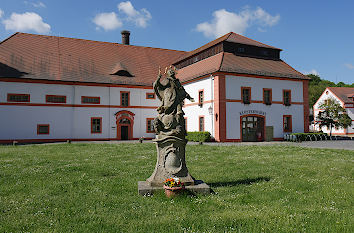
{"label": "weathered stone statue together with its carved pedestal", "polygon": [[166,67],[165,79],[161,82],[161,69],[154,82],[154,91],[161,101],[157,109],[158,116],[154,120],[156,132],[157,163],[155,171],[146,181],[151,186],[160,186],[165,179],[178,177],[186,185],[193,185],[194,179],[188,173],[185,161],[187,144],[184,112],[184,99],[194,102],[176,78],[176,69]]}

